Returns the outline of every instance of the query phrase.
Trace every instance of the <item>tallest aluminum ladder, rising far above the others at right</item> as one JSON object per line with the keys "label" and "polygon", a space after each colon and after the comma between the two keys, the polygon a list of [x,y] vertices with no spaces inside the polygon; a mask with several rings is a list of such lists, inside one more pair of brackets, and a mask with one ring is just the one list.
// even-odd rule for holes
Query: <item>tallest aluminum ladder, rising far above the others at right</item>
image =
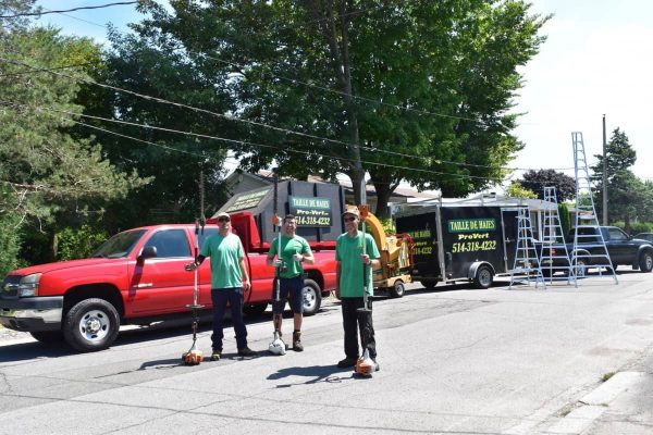
{"label": "tallest aluminum ladder, rising far above the others at right", "polygon": [[[571,263],[577,278],[584,277],[590,268],[599,270],[599,276],[612,276],[619,284],[609,260],[603,233],[599,229],[599,217],[594,207],[592,185],[588,170],[582,133],[572,132],[574,171],[576,175],[576,216],[574,225],[574,251]],[[603,271],[605,269],[605,272]]]}

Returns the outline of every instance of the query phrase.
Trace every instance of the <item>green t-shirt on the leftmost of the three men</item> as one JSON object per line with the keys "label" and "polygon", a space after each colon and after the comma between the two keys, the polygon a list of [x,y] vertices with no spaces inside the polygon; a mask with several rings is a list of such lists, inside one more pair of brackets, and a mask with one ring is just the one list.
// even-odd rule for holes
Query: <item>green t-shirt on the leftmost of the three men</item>
{"label": "green t-shirt on the leftmost of the three men", "polygon": [[241,260],[245,254],[238,236],[209,236],[200,253],[211,258],[211,288],[243,287]]}

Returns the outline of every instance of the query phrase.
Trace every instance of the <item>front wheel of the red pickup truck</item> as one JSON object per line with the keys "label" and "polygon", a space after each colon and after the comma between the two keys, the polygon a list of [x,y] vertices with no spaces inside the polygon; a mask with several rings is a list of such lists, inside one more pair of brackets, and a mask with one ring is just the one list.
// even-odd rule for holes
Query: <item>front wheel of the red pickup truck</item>
{"label": "front wheel of the red pickup truck", "polygon": [[120,316],[104,299],[91,298],[77,302],[65,314],[63,337],[82,352],[102,350],[118,337]]}

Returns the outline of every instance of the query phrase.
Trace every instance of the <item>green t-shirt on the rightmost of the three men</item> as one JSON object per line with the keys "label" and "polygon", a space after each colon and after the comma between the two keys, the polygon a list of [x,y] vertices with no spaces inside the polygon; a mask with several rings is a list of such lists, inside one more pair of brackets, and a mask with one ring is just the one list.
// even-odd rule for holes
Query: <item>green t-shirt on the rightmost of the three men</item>
{"label": "green t-shirt on the rightmost of the three men", "polygon": [[[370,259],[381,257],[374,239],[369,234],[365,235],[366,253]],[[342,234],[335,243],[335,261],[341,263],[340,289],[342,298],[362,297],[362,233],[358,232],[356,237],[350,237],[348,233]],[[372,266],[366,266],[367,272],[367,291],[373,296],[372,286]]]}

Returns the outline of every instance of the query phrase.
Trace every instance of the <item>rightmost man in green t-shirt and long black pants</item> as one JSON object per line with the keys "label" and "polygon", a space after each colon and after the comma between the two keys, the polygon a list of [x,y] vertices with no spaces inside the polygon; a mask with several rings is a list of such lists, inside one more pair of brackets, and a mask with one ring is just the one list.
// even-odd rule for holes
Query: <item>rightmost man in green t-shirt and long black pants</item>
{"label": "rightmost man in green t-shirt and long black pants", "polygon": [[[341,298],[343,311],[343,328],[345,332],[345,359],[337,363],[338,368],[356,365],[358,360],[358,331],[362,334],[368,332],[367,344],[370,358],[377,363],[377,341],[374,340],[374,327],[372,324],[372,301],[368,300],[369,315],[359,316],[357,310],[364,308],[364,287],[368,296],[373,295],[372,270],[379,268],[379,248],[369,234],[358,231],[360,214],[358,209],[347,209],[343,213],[345,222],[345,234],[342,234],[335,243],[336,261],[336,287],[335,295]],[[362,246],[365,244],[365,253]],[[364,264],[365,268],[364,268]],[[364,279],[364,273],[367,275]],[[365,319],[361,324],[361,319]],[[364,349],[365,351],[365,349]]]}

